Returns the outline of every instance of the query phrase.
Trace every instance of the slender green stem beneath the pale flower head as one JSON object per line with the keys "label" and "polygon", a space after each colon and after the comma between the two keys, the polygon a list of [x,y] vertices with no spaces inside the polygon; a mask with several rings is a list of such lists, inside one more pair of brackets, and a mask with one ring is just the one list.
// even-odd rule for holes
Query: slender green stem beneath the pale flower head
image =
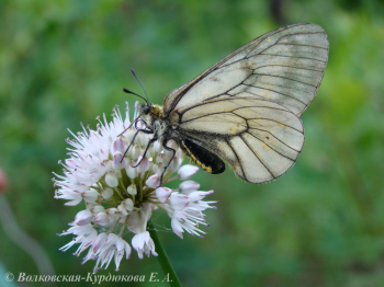
{"label": "slender green stem beneath the pale flower head", "polygon": [[172,287],[182,287],[178,275],[176,274],[173,266],[171,262],[169,261],[169,257],[166,253],[166,250],[163,249],[160,239],[157,234],[157,231],[153,225],[153,222],[148,221],[148,231],[150,234],[150,238],[154,240],[156,252],[159,254],[157,259],[159,260],[159,263],[161,265],[161,268],[166,276],[169,276],[169,285]]}

